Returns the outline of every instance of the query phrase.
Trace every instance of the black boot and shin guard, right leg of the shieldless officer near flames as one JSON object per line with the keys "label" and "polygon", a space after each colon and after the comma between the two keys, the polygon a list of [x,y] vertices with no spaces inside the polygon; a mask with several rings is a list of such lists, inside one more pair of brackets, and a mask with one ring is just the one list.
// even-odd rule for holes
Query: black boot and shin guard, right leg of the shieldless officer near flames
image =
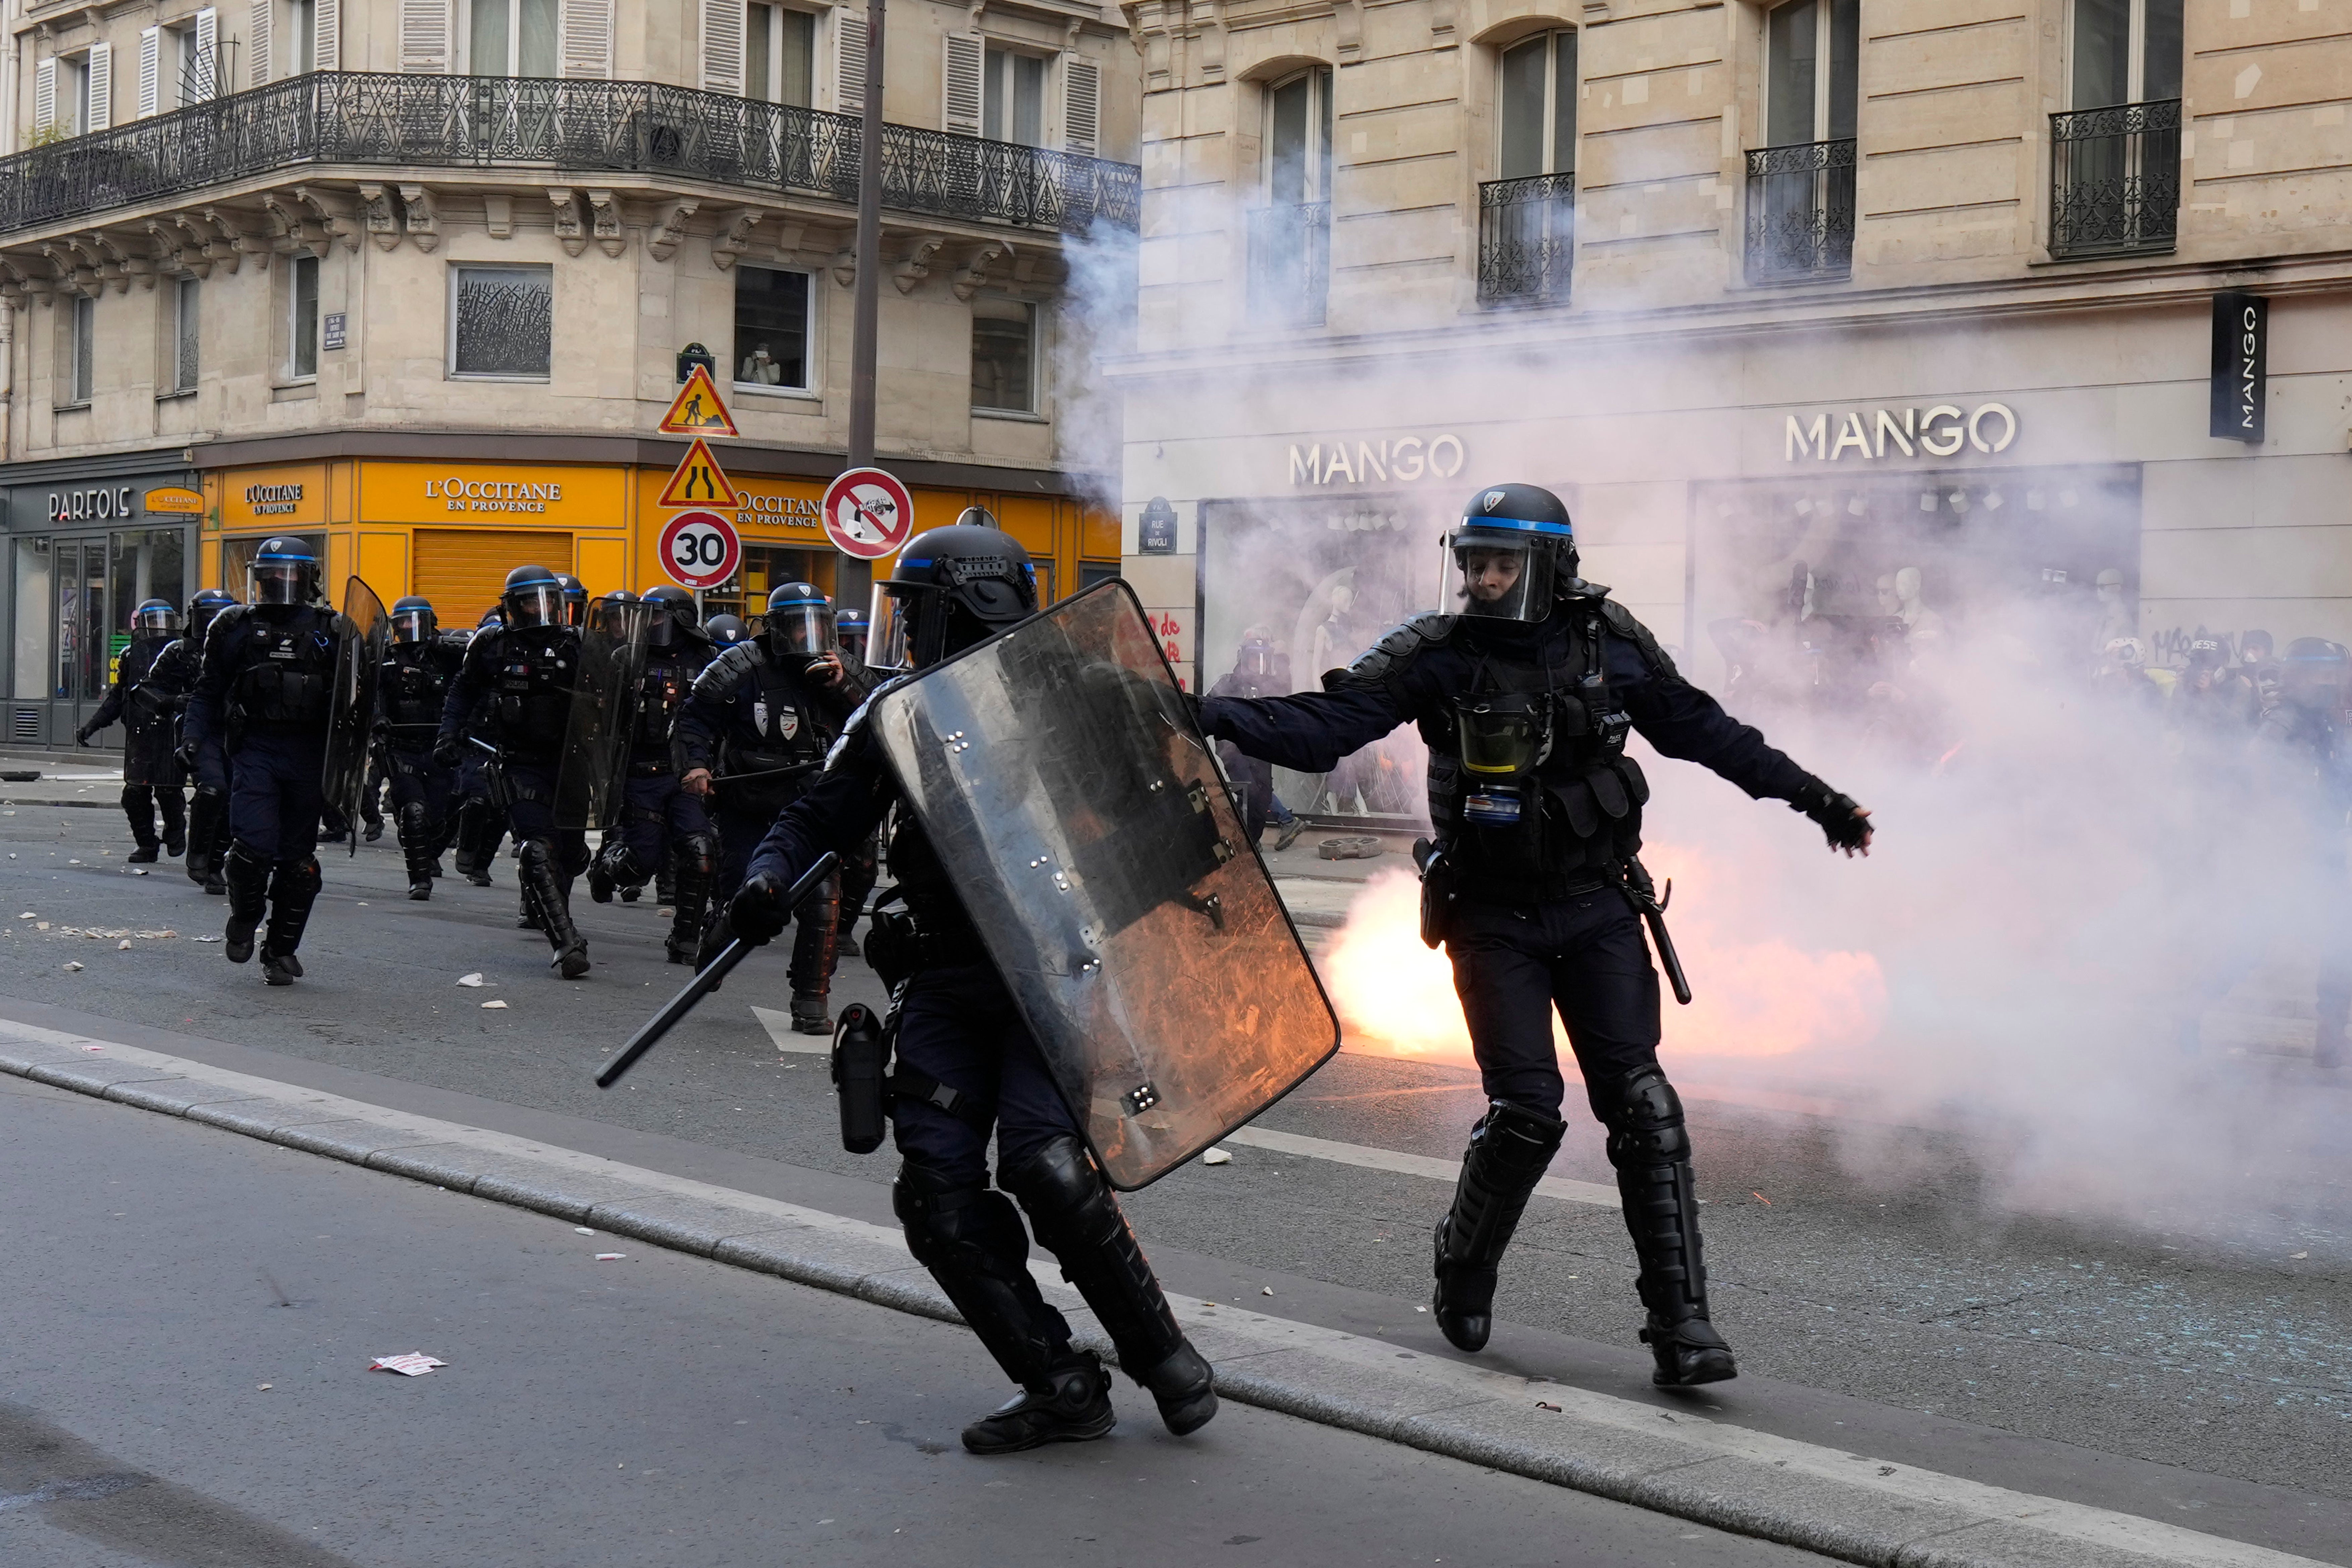
{"label": "black boot and shin guard, right leg of the shieldless officer near flames", "polygon": [[1651,1382],[1684,1389],[1738,1378],[1731,1347],[1708,1321],[1708,1269],[1698,1251],[1698,1194],[1691,1190],[1691,1135],[1682,1100],[1658,1067],[1639,1067],[1595,1091],[1609,1124],[1609,1164],[1625,1199],[1625,1229],[1642,1265],[1635,1291],[1649,1307],[1642,1342],[1658,1359]]}

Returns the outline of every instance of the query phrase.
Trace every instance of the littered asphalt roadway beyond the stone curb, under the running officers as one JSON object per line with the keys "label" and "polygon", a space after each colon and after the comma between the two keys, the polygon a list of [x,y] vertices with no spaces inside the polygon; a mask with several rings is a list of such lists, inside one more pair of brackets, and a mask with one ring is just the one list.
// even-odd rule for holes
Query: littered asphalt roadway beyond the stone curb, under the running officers
{"label": "littered asphalt roadway beyond the stone curb, under the running officers", "polygon": [[[191,940],[219,931],[221,900],[174,865],[127,875],[118,816],[16,806],[0,816],[0,844],[14,853],[0,860],[0,994],[868,1185],[889,1178],[884,1157],[840,1150],[821,1058],[779,1053],[750,1013],[786,1006],[781,961],[739,971],[623,1088],[590,1086],[597,1058],[684,978],[661,964],[649,905],[581,896],[597,966],[564,985],[546,969],[546,943],[513,929],[510,863],[494,889],[445,884],[414,905],[386,839],[358,860],[329,856],[303,947],[310,978],[268,990]],[[7,924],[26,910],[52,929]],[[92,940],[64,926],[179,936]],[[459,990],[466,971],[489,985]],[[837,1004],[877,992],[844,964]],[[508,1009],[485,1011],[485,999]],[[1477,1110],[1463,1072],[1343,1053],[1261,1126],[1451,1159]],[[1717,1321],[1748,1373],[1710,1396],[1736,1418],[1771,1422],[1818,1392],[1860,1401],[1872,1420],[1907,1413],[1924,1434],[1919,1462],[1952,1469],[2016,1434],[2046,1443],[2034,1453],[2051,1474],[2067,1462],[2122,1474],[2114,1455],[2150,1474],[2178,1467],[2190,1490],[2216,1476],[2352,1497],[2347,1150],[2286,1150],[2307,1180],[2274,1215],[2251,1201],[2237,1229],[2166,1234],[2154,1220],[2006,1215],[1980,1201],[1964,1150],[1903,1128],[1886,1133],[1900,1159],[1860,1180],[1830,1157],[1830,1128],[1813,1117],[1712,1100],[1693,1103],[1693,1126]],[[1555,1173],[1606,1182],[1599,1131],[1571,1128]],[[1230,1166],[1181,1171],[1129,1211],[1155,1253],[1308,1298],[1329,1286],[1350,1312],[1383,1319],[1371,1326],[1435,1342],[1411,1307],[1425,1302],[1425,1237],[1444,1201],[1446,1187],[1425,1178],[1237,1150]],[[1538,1199],[1505,1269],[1496,1352],[1585,1356],[1595,1387],[1642,1394],[1630,1281],[1613,1213]],[[1828,1429],[1830,1406],[1813,1408]]]}

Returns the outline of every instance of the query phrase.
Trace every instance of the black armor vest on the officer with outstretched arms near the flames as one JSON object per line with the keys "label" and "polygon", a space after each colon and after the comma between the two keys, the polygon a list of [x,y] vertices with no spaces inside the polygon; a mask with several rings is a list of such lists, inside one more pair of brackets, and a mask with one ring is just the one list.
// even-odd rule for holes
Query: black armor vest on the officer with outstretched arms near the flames
{"label": "black armor vest on the officer with outstretched arms near the flames", "polygon": [[1571,607],[1562,663],[1465,642],[1470,689],[1421,722],[1430,820],[1472,898],[1562,898],[1613,879],[1642,846],[1649,780],[1625,755],[1632,719],[1602,663],[1602,607]]}

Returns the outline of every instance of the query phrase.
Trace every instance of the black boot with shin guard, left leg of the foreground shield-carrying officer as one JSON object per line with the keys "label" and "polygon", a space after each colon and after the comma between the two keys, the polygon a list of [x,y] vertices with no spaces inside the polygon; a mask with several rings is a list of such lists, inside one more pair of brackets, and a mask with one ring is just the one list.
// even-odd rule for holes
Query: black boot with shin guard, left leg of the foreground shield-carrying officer
{"label": "black boot with shin guard, left leg of the foreground shield-carrying officer", "polygon": [[1101,1361],[1070,1347],[1070,1324],[1028,1272],[1028,1237],[1002,1192],[957,1187],[953,1178],[906,1161],[891,1182],[891,1208],[915,1262],[948,1293],[1021,1394],[964,1427],[978,1455],[1021,1453],[1042,1443],[1084,1443],[1110,1432],[1110,1378]]}

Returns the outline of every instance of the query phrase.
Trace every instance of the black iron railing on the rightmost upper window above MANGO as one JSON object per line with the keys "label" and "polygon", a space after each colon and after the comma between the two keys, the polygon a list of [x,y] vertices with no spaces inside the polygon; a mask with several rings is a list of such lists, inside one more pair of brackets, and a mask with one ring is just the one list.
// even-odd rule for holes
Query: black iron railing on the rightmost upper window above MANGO
{"label": "black iron railing on the rightmost upper window above MANGO", "polygon": [[2051,115],[2051,256],[2173,249],[2180,99]]}

